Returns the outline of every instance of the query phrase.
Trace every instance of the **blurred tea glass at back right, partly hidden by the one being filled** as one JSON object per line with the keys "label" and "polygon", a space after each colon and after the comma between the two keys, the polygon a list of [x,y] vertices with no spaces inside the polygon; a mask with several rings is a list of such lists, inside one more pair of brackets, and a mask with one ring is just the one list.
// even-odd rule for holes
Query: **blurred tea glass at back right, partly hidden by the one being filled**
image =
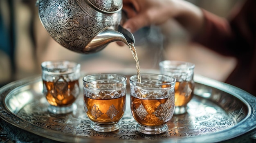
{"label": "blurred tea glass at back right, partly hidden by the one being filled", "polygon": [[159,63],[160,72],[176,78],[175,85],[175,112],[174,114],[184,114],[187,112],[187,104],[193,97],[195,83],[195,64],[183,61],[161,61]]}

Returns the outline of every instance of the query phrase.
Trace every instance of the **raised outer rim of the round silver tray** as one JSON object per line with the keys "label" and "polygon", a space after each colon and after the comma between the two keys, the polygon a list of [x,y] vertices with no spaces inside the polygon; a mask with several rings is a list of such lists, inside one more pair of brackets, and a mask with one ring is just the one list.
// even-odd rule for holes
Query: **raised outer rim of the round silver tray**
{"label": "raised outer rim of the round silver tray", "polygon": [[[123,74],[126,75],[126,74]],[[130,74],[127,74],[130,75]],[[61,141],[61,142],[115,142],[111,139],[95,139],[95,138],[85,138],[81,136],[75,136],[70,134],[63,134],[59,132],[54,132],[52,130],[45,130],[41,127],[35,126],[29,122],[25,122],[24,120],[20,119],[18,116],[13,114],[7,107],[4,105],[5,97],[15,88],[21,86],[27,86],[38,82],[41,80],[41,76],[33,76],[27,77],[25,79],[20,79],[18,81],[13,81],[4,87],[0,88],[0,118],[7,123],[21,129],[25,130],[31,134],[36,134],[38,136],[42,136],[46,139],[52,139],[54,141]],[[159,143],[167,143],[170,141],[173,142],[182,142],[182,143],[189,143],[191,139],[193,142],[197,143],[210,143],[210,142],[220,142],[220,141],[227,141],[229,139],[238,137],[242,134],[245,134],[253,129],[256,128],[256,97],[237,88],[235,86],[231,86],[229,84],[222,83],[220,81],[216,81],[207,77],[203,77],[201,75],[196,75],[194,77],[195,83],[210,86],[212,88],[217,88],[218,90],[222,90],[231,94],[232,96],[238,98],[247,106],[247,115],[244,119],[238,122],[231,128],[215,132],[213,134],[206,134],[201,136],[191,136],[191,137],[172,137],[168,139],[157,140]],[[27,127],[32,130],[27,130]],[[151,142],[154,140],[118,140],[117,142]]]}

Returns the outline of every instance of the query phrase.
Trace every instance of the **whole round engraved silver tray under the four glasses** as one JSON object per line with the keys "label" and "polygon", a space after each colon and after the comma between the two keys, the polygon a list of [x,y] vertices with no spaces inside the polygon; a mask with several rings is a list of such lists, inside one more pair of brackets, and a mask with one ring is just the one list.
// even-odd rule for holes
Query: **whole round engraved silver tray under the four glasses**
{"label": "whole round engraved silver tray under the four glasses", "polygon": [[[127,77],[129,79],[130,75]],[[40,76],[0,88],[0,125],[15,141],[72,143],[211,143],[227,141],[255,130],[256,97],[200,75],[195,75],[194,80],[195,96],[188,104],[188,112],[174,115],[168,122],[168,132],[164,134],[145,135],[136,131],[136,122],[130,112],[129,84],[121,129],[101,133],[90,128],[90,120],[83,110],[83,90],[76,100],[78,109],[73,113],[54,115],[47,112],[48,103],[42,93]]]}

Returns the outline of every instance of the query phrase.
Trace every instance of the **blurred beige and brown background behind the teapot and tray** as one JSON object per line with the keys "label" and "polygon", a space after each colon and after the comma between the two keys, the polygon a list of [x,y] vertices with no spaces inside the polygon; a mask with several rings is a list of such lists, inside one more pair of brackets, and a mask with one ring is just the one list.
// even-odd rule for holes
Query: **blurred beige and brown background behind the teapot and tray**
{"label": "blurred beige and brown background behind the teapot and tray", "polygon": [[[227,17],[241,0],[188,0],[216,15]],[[135,61],[128,46],[109,44],[98,53],[81,54],[55,42],[38,17],[36,0],[0,0],[0,87],[32,75],[40,75],[46,60],[65,59],[81,64],[85,73],[133,72]],[[143,28],[135,36],[141,73],[159,69],[162,60],[194,63],[195,74],[224,81],[236,60],[223,57],[190,42],[190,37],[174,21]]]}

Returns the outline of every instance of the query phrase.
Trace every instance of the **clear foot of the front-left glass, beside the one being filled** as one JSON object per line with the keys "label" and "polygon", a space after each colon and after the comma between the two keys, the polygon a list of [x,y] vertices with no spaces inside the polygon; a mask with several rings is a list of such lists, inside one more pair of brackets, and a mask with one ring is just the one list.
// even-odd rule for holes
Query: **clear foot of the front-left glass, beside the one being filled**
{"label": "clear foot of the front-left glass, beside the one being filled", "polygon": [[91,128],[95,131],[98,132],[113,132],[115,130],[119,130],[120,129],[120,124],[116,123],[113,125],[102,125],[102,124],[97,124],[91,121]]}

